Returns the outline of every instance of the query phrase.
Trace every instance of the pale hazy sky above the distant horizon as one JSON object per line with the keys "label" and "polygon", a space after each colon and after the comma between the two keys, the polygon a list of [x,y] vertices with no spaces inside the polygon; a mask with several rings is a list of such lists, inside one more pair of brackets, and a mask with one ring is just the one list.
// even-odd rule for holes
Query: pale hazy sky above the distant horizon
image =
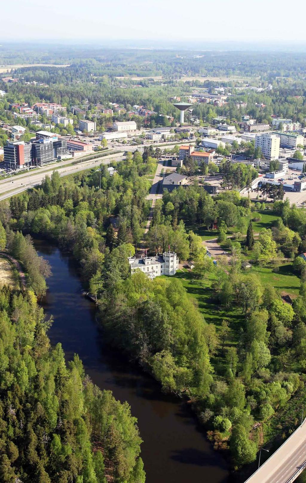
{"label": "pale hazy sky above the distant horizon", "polygon": [[[123,39],[306,44],[306,0],[14,0],[1,2],[0,43]],[[7,19],[7,21],[5,20]],[[129,42],[129,46],[131,42]]]}

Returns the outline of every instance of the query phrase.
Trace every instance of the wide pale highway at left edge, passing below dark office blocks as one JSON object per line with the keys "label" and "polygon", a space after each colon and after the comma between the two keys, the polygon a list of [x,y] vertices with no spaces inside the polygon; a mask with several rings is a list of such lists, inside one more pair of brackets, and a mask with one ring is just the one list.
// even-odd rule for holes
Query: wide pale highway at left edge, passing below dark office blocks
{"label": "wide pale highway at left edge, passing below dark office blocks", "polygon": [[58,171],[61,176],[65,176],[70,173],[99,166],[100,164],[108,164],[109,161],[114,159],[121,160],[122,158],[123,152],[118,154],[109,154],[107,156],[87,161],[83,160],[80,164],[75,164],[72,166],[65,166],[65,164],[71,164],[71,160],[67,161],[66,163],[63,162],[63,167],[60,163],[52,163],[51,165],[44,166],[38,170],[33,170],[32,172],[26,171],[24,173],[16,174],[12,176],[12,181],[11,178],[0,181],[0,200],[8,198],[17,193],[21,193],[22,191],[35,185],[39,185],[46,174],[51,176],[53,171]]}

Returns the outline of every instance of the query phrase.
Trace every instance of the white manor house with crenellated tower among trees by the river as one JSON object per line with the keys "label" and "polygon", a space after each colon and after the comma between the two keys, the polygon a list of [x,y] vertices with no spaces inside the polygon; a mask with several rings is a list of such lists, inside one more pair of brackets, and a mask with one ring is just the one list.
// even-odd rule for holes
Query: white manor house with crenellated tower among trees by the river
{"label": "white manor house with crenellated tower among trees by the river", "polygon": [[129,257],[131,273],[141,270],[153,279],[158,275],[174,275],[178,267],[178,258],[175,252],[164,252],[156,256]]}

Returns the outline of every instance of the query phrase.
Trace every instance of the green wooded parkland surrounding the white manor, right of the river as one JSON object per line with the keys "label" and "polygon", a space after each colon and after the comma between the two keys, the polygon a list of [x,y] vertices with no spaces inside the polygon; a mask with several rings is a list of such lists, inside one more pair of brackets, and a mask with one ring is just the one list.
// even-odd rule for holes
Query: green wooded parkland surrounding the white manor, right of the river
{"label": "green wooded parkland surrounding the white manor, right of the river", "polygon": [[[212,198],[197,184],[164,193],[145,243],[151,253],[171,244],[180,259],[193,257],[192,281],[179,273],[154,281],[131,276],[128,256],[143,238],[146,170],[154,163],[136,152],[113,176],[104,166],[66,180],[54,172],[40,188],[2,202],[0,219],[9,247],[11,230],[21,230],[73,252],[112,343],[150,370],[162,390],[191,398],[215,446],[229,449],[239,468],[255,459],[273,414],[304,387],[306,262],[294,257],[306,251],[306,210],[276,196],[268,215],[265,203],[232,190]],[[262,216],[272,222],[261,225]],[[197,235],[214,220],[229,254],[217,265]],[[242,268],[249,259],[252,273]],[[292,305],[279,288],[283,271],[297,284]],[[190,298],[192,284],[197,297],[208,296],[205,313]]]}

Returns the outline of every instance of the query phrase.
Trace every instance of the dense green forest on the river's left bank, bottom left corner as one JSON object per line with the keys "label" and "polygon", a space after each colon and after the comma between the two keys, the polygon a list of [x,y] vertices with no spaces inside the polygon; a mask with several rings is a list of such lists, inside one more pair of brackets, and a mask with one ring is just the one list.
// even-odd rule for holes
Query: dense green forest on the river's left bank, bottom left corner
{"label": "dense green forest on the river's left bank, bottom left corner", "polygon": [[144,482],[129,405],[95,386],[77,355],[66,363],[51,324],[33,291],[1,288],[1,482]]}

